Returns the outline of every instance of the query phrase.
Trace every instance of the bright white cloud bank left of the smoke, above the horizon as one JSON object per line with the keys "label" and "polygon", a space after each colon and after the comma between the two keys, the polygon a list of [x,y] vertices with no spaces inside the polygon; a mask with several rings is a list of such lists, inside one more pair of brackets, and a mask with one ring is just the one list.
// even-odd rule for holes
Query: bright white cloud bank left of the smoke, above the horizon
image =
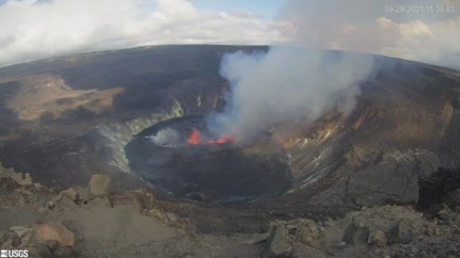
{"label": "bright white cloud bank left of the smoke, above the horizon", "polygon": [[271,44],[278,24],[187,0],[9,0],[0,5],[0,66],[53,55],[163,44]]}

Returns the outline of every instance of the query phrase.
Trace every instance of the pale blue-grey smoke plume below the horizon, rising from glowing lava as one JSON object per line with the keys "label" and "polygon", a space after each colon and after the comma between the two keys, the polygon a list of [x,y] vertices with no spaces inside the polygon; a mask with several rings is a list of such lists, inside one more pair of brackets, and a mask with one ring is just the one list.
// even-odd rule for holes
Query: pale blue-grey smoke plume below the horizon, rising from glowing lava
{"label": "pale blue-grey smoke plume below the horizon, rising from glowing lava", "polygon": [[220,73],[230,92],[223,112],[207,117],[208,128],[244,143],[279,123],[313,121],[335,106],[349,112],[373,62],[369,55],[286,46],[226,54]]}

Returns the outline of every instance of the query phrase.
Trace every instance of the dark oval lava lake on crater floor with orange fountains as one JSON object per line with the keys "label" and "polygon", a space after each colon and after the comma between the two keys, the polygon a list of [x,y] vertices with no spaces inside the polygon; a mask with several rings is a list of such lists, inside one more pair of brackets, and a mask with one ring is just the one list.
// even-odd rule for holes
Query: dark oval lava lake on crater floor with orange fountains
{"label": "dark oval lava lake on crater floor with orange fountains", "polygon": [[[160,130],[176,132],[172,143],[156,144]],[[282,194],[292,183],[283,146],[268,135],[251,145],[234,137],[209,137],[202,116],[162,121],[144,129],[126,146],[132,171],[177,196],[205,202],[251,200]]]}

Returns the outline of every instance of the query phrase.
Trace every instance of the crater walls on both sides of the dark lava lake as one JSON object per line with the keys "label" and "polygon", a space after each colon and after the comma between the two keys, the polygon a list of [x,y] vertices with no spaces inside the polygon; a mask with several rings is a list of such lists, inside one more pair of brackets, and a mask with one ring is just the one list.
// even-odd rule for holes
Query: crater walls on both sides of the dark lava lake
{"label": "crater walls on both sides of the dark lava lake", "polygon": [[[142,184],[127,144],[159,121],[221,108],[220,58],[241,48],[264,47],[155,46],[2,68],[0,162],[49,185],[84,184],[94,172]],[[420,177],[460,166],[459,73],[375,62],[352,112],[283,134],[292,188],[269,205],[415,203]]]}

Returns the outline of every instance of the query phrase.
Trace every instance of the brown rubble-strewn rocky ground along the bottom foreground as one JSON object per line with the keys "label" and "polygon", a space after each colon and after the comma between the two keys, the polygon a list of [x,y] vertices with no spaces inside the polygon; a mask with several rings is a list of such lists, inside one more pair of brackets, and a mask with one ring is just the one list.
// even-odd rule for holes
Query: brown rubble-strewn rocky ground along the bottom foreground
{"label": "brown rubble-strewn rocky ground along the bottom foreground", "polygon": [[[65,190],[14,173],[0,178],[0,249],[26,249],[29,257],[460,257],[458,188],[423,212],[363,207],[335,220],[267,221],[226,234],[218,227],[205,233],[192,215],[171,212],[198,203],[159,201],[144,189],[111,193],[106,175]],[[215,209],[209,224],[226,216]]]}

